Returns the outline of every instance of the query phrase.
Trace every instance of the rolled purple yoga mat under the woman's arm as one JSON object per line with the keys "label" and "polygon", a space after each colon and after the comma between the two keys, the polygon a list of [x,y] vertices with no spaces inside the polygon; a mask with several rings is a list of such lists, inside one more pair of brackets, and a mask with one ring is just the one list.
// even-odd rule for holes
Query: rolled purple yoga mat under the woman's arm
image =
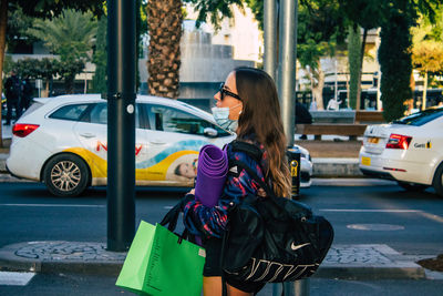
{"label": "rolled purple yoga mat under the woman's arm", "polygon": [[205,206],[215,206],[223,193],[228,173],[226,151],[215,145],[205,145],[198,154],[195,198]]}

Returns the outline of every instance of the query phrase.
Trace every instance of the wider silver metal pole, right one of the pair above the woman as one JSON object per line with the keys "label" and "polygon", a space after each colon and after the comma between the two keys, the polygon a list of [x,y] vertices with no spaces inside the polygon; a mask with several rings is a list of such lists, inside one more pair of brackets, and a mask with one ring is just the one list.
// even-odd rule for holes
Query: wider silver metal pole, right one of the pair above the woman
{"label": "wider silver metal pole, right one of the pair above the woman", "polygon": [[278,94],[288,146],[293,145],[298,1],[280,0]]}

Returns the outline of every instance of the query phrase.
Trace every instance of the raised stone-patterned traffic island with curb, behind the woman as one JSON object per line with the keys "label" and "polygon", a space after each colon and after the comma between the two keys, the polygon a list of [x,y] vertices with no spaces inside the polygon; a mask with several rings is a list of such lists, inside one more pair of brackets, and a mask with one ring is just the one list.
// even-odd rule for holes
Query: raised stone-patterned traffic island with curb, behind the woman
{"label": "raised stone-patterned traffic island with curb, behind the woman", "polygon": [[[0,248],[0,268],[34,273],[119,275],[126,253],[107,252],[104,243],[27,242]],[[432,257],[432,256],[430,256]],[[418,258],[415,258],[418,259]],[[388,245],[333,245],[320,278],[420,279],[426,272]],[[433,273],[443,279],[443,273]]]}

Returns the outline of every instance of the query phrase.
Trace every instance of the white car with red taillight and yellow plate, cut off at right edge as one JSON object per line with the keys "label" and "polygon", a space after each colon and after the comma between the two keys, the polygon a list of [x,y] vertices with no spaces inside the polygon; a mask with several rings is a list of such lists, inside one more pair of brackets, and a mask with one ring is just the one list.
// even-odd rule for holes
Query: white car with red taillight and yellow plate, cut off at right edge
{"label": "white car with red taillight and yellow plate, cut off at right edge", "polygon": [[405,190],[433,186],[443,196],[443,109],[368,125],[359,166],[363,174],[395,180]]}

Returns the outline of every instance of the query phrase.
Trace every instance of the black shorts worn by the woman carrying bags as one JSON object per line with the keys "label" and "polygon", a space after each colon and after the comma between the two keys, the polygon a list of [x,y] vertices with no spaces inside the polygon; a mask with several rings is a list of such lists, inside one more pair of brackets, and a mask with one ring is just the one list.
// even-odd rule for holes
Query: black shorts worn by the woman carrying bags
{"label": "black shorts worn by the woman carrying bags", "polygon": [[[203,245],[206,249],[206,261],[203,268],[203,276],[222,276],[222,239],[215,237],[205,239]],[[226,283],[243,292],[254,294],[258,293],[265,286],[265,284],[235,280],[228,276],[226,277]]]}

